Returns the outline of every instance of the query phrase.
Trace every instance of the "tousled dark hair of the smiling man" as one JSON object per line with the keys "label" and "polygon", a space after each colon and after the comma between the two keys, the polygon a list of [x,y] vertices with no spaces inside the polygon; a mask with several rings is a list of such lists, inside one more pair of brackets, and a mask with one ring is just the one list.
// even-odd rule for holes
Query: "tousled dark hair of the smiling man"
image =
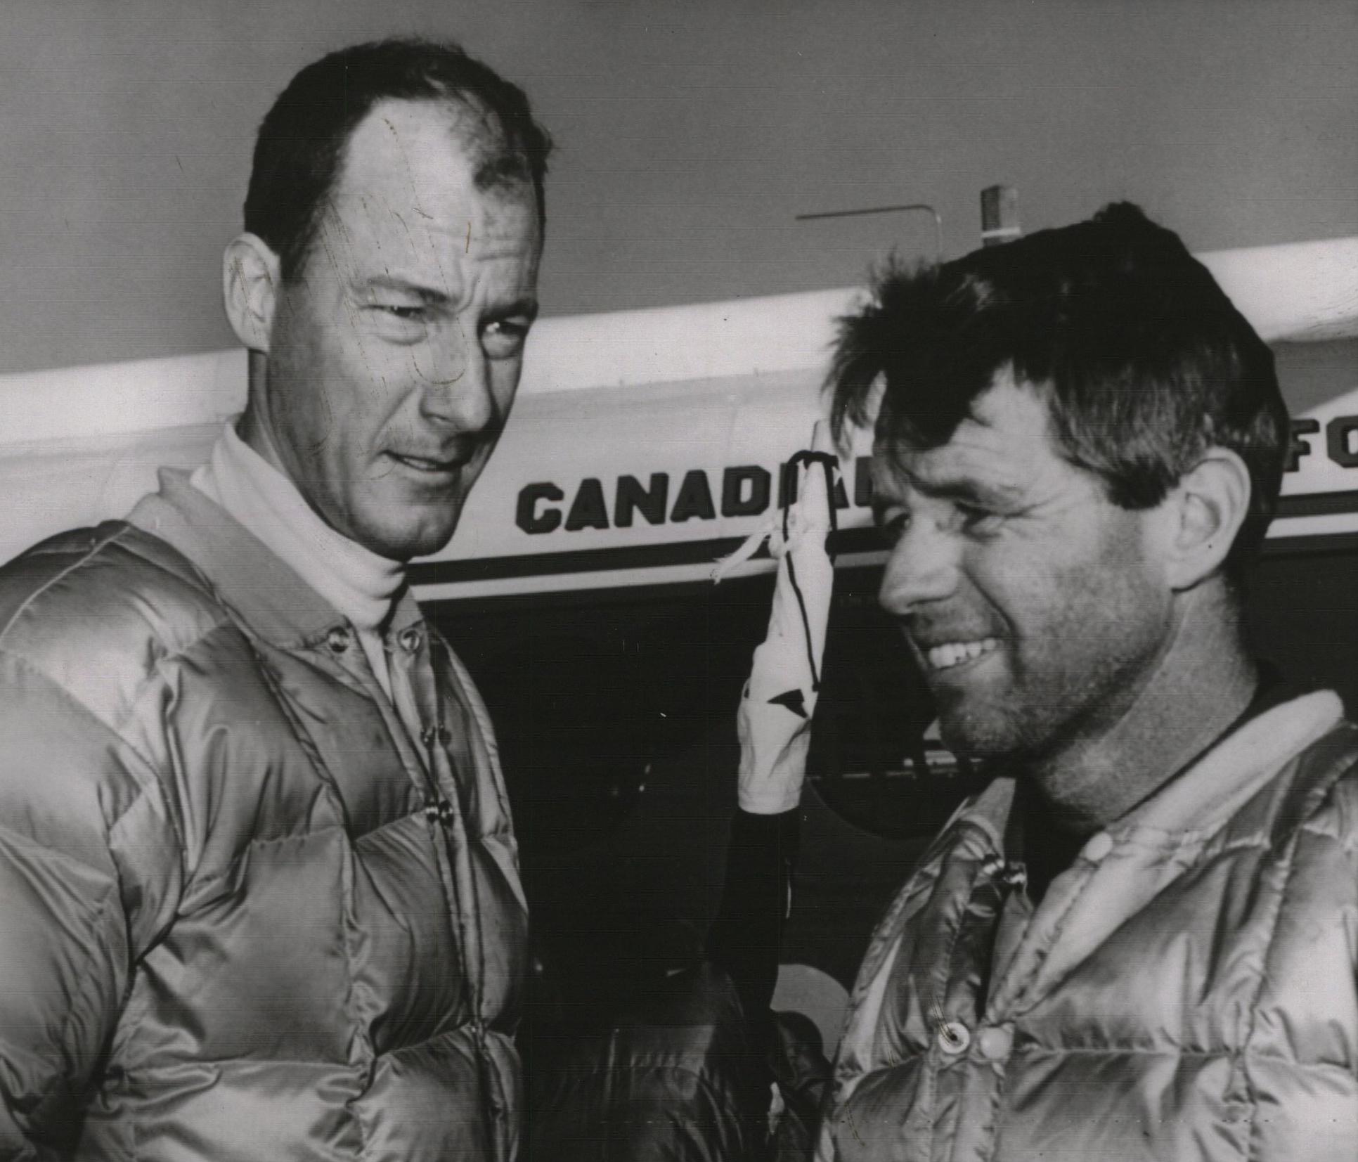
{"label": "tousled dark hair of the smiling man", "polygon": [[1122,508],[1158,504],[1210,447],[1249,468],[1233,574],[1272,519],[1289,444],[1272,352],[1172,231],[1137,206],[937,266],[896,262],[839,322],[832,426],[945,444],[998,372],[1047,399],[1067,459]]}

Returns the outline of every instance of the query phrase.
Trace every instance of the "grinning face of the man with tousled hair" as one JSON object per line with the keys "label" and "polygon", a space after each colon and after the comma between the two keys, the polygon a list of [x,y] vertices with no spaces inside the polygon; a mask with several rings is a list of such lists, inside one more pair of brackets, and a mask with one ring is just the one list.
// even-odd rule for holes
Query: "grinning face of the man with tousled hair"
{"label": "grinning face of the man with tousled hair", "polygon": [[930,451],[873,456],[892,540],[881,605],[975,757],[1044,760],[1127,713],[1173,635],[1154,510],[1108,501],[1054,445],[1042,396],[997,375]]}

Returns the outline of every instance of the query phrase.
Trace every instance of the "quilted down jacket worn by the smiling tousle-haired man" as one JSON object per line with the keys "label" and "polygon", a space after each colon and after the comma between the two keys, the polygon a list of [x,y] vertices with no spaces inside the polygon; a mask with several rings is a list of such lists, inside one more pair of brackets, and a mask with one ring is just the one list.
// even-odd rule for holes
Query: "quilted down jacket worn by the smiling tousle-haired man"
{"label": "quilted down jacket worn by the smiling tousle-haired man", "polygon": [[1014,785],[944,829],[856,986],[819,1157],[1358,1157],[1358,730],[1306,695],[1032,907]]}

